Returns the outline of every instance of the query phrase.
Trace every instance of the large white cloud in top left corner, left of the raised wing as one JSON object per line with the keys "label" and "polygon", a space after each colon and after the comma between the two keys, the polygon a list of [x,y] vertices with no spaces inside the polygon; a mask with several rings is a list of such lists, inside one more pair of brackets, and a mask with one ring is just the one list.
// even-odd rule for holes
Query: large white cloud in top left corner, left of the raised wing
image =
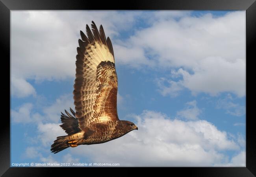
{"label": "large white cloud in top left corner, left of the raised wing", "polygon": [[74,74],[77,37],[57,14],[12,11],[11,36],[11,74],[37,80]]}

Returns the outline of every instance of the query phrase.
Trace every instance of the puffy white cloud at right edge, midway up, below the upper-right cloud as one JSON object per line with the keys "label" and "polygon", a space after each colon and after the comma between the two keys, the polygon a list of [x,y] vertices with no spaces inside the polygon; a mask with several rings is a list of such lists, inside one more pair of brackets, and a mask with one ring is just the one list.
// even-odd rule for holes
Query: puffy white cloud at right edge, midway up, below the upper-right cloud
{"label": "puffy white cloud at right edge, midway up, below the upper-right cloud", "polygon": [[245,61],[226,61],[219,57],[208,57],[198,62],[199,68],[189,74],[180,68],[177,72],[182,76],[177,84],[191,90],[192,94],[205,92],[217,96],[221,92],[233,92],[237,96],[245,96]]}

